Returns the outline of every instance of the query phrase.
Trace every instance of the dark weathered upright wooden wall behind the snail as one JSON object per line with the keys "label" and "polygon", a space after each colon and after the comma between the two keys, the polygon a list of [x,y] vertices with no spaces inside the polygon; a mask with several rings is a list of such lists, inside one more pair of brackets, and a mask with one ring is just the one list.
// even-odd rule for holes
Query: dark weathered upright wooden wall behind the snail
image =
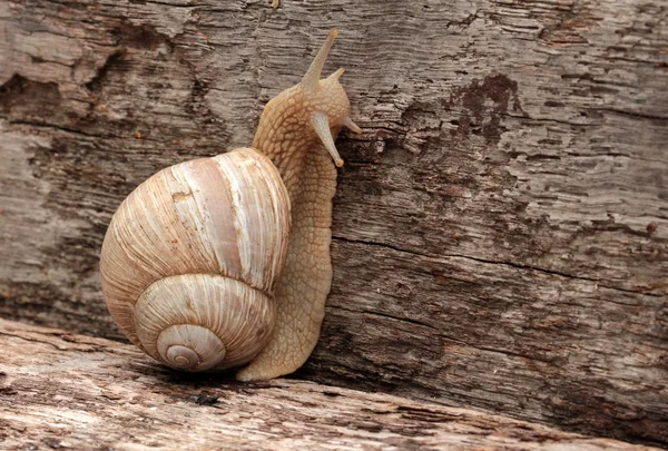
{"label": "dark weathered upright wooden wall behind the snail", "polygon": [[313,381],[668,444],[660,0],[0,1],[0,314],[118,337],[98,249],[326,30],[353,117]]}

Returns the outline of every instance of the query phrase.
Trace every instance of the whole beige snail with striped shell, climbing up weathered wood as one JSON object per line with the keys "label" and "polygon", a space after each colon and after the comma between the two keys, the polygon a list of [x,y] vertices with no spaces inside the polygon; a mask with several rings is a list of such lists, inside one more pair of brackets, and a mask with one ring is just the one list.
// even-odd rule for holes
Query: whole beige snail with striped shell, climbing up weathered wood
{"label": "whole beige snail with striped shell, climbing up weathered wood", "polygon": [[111,218],[102,294],[121,332],[177,370],[239,367],[243,381],[292,373],[320,337],[332,284],[334,145],[350,118],[337,35],[265,107],[253,147],[185,161],[141,183]]}

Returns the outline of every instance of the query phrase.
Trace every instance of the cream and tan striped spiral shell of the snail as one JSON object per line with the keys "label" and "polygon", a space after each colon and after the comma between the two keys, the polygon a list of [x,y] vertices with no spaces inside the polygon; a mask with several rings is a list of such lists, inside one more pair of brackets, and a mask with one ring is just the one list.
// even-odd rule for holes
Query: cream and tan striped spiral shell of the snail
{"label": "cream and tan striped spiral shell of the snail", "polygon": [[254,149],[160,170],[124,200],[105,236],[107,307],[169,366],[244,364],[271,337],[289,222],[281,176]]}

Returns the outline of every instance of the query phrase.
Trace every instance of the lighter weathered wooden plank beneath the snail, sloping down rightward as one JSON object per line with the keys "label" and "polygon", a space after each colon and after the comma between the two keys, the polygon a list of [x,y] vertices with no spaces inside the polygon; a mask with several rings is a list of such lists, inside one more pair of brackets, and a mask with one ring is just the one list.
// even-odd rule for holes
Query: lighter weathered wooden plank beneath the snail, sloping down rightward
{"label": "lighter weathered wooden plank beneath the snail, sloping down rightward", "polygon": [[175,373],[130,345],[3,320],[0,346],[3,450],[650,450],[386,394]]}

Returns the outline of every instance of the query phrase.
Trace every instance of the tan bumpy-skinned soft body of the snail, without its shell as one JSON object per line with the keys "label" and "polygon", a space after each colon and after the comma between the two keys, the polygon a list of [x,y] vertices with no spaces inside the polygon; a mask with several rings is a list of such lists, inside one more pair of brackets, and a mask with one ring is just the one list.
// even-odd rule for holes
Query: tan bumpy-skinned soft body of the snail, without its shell
{"label": "tan bumpy-skinned soft body of the snail, without its shell", "polygon": [[[306,362],[320,337],[332,285],[333,160],[343,165],[334,138],[342,126],[361,131],[350,118],[350,101],[338,82],[343,69],[320,80],[335,37],[333,30],[298,85],[267,104],[253,141],[253,147],[272,159],[287,187],[292,231],[287,262],[276,287],[274,333],[257,357],[237,374],[239,380],[292,373]],[[316,131],[314,118],[325,118],[326,129]],[[322,138],[324,131],[328,139]]]}

